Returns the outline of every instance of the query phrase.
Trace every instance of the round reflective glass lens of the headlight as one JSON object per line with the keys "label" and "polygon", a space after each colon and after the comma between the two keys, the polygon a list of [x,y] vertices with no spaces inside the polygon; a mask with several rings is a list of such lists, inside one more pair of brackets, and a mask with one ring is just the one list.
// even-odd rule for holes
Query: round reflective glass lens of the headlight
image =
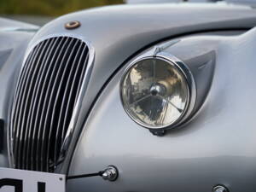
{"label": "round reflective glass lens of the headlight", "polygon": [[189,88],[182,71],[171,61],[148,58],[125,71],[121,100],[131,119],[148,128],[164,128],[183,116]]}

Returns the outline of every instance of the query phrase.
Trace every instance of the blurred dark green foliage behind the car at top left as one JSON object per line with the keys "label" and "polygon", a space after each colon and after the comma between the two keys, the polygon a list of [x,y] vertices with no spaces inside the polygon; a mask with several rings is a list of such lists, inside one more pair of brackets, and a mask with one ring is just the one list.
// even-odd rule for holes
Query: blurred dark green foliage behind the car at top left
{"label": "blurred dark green foliage behind the car at top left", "polygon": [[58,16],[119,3],[123,3],[123,0],[0,0],[0,14]]}

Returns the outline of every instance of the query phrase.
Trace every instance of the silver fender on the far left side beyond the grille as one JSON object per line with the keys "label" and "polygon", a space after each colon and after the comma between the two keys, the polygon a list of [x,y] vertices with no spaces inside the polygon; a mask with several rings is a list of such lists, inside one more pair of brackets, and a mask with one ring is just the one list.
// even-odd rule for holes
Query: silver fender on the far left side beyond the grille
{"label": "silver fender on the far left side beyond the grille", "polygon": [[9,109],[12,105],[15,82],[25,55],[26,46],[34,35],[33,32],[8,31],[6,29],[33,29],[36,26],[26,25],[12,20],[0,19],[0,118],[4,120],[3,151],[0,153],[0,166],[9,166],[7,126],[9,125]]}

